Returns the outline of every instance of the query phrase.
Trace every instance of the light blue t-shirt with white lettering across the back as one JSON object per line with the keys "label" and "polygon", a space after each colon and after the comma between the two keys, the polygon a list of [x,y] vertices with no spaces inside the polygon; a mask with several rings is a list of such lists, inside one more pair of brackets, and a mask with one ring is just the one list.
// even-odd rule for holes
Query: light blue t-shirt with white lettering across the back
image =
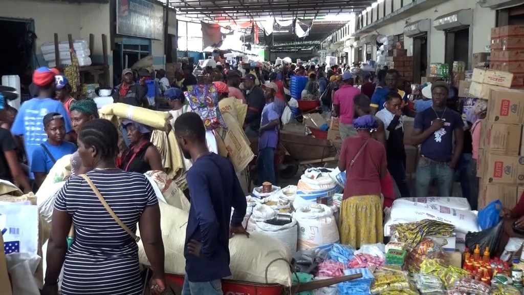
{"label": "light blue t-shirt with white lettering across the back", "polygon": [[[43,131],[43,117],[48,113],[57,112],[63,115],[65,121],[65,132],[70,132],[71,119],[63,104],[51,98],[33,98],[24,102],[18,114],[16,115],[15,122],[11,128],[11,133],[14,135],[24,136],[24,146],[26,149],[27,162],[29,168],[32,163],[32,153],[40,145],[40,143],[47,141],[47,134]],[[31,169],[29,169],[31,171]],[[35,179],[35,176],[30,172],[30,179]]]}

